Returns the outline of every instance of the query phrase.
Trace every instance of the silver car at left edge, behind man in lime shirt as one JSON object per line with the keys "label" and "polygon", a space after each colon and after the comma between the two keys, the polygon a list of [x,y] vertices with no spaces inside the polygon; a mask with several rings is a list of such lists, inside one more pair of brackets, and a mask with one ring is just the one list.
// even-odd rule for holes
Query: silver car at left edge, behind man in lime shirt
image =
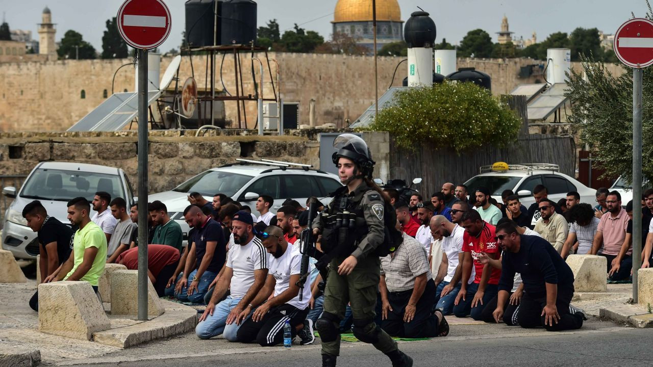
{"label": "silver car at left edge, behind man in lime shirt", "polygon": [[[16,187],[3,188],[3,195],[14,201],[5,212],[2,248],[14,253],[17,259],[36,259],[39,241],[22,215],[25,205],[40,200],[48,215],[62,223],[70,223],[66,203],[75,197],[93,200],[97,191],[106,191],[112,198],[121,197],[128,205],[134,202],[131,184],[120,168],[84,163],[39,163],[20,191]],[[91,209],[90,215],[93,214]]]}

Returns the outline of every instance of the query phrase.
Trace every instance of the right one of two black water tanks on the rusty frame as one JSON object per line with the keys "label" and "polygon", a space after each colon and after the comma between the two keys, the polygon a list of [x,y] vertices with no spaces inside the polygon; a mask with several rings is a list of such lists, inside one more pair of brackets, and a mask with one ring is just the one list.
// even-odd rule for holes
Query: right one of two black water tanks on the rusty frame
{"label": "right one of two black water tanks on the rusty frame", "polygon": [[226,0],[222,3],[221,44],[249,44],[256,40],[256,3],[252,0]]}

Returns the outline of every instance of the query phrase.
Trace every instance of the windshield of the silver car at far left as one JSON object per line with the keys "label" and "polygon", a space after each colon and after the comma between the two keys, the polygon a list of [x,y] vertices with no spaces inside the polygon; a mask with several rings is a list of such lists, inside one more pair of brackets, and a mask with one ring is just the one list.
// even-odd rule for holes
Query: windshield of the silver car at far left
{"label": "windshield of the silver car at far left", "polygon": [[20,196],[26,199],[59,201],[85,197],[91,201],[97,191],[106,191],[112,198],[124,196],[118,174],[52,168],[37,169],[23,185]]}

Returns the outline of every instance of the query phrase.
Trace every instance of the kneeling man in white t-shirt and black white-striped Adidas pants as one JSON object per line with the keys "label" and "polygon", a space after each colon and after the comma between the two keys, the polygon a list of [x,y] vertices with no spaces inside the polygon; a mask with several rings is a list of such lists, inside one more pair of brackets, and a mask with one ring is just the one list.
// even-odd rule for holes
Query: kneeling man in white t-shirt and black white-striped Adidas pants
{"label": "kneeling man in white t-shirt and black white-striped Adidas pants", "polygon": [[259,295],[244,310],[244,313],[249,313],[256,308],[251,318],[238,329],[238,341],[257,342],[263,347],[269,347],[283,342],[283,326],[287,322],[291,326],[293,338],[299,327],[306,327],[306,333],[313,334],[312,323],[304,322],[309,311],[311,287],[308,279],[303,290],[296,285],[302,254],[283,238],[283,231],[271,225],[265,229],[262,237],[263,246],[272,255],[270,272]]}

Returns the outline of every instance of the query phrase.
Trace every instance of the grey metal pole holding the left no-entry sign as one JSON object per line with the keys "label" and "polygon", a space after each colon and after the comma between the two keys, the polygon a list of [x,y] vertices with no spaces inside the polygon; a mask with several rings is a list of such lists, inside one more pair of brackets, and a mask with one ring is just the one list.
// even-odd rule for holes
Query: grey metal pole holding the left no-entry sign
{"label": "grey metal pole holding the left no-entry sign", "polygon": [[138,50],[138,319],[148,319],[148,50]]}

